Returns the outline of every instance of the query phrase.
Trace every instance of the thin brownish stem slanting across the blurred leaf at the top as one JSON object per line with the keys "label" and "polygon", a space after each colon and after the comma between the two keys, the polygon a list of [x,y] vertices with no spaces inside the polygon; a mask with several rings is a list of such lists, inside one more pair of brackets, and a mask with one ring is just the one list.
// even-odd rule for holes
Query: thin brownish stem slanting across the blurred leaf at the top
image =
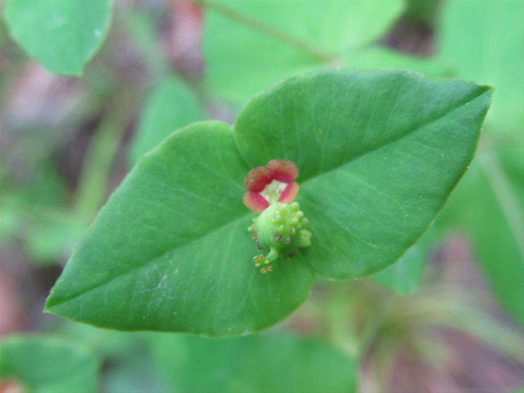
{"label": "thin brownish stem slanting across the blurred leaf at the top", "polygon": [[281,42],[284,42],[292,47],[307,52],[323,62],[332,63],[335,60],[335,56],[333,54],[327,53],[320,48],[316,48],[310,43],[302,41],[299,38],[290,36],[285,32],[264,25],[263,23],[260,23],[258,20],[242,15],[229,7],[224,7],[220,4],[217,4],[216,2],[210,2],[206,0],[196,1],[196,3],[201,4],[205,8],[211,8],[214,11],[219,12],[230,19],[236,20],[239,23],[249,26],[255,30],[261,31],[267,34],[268,36],[273,37]]}

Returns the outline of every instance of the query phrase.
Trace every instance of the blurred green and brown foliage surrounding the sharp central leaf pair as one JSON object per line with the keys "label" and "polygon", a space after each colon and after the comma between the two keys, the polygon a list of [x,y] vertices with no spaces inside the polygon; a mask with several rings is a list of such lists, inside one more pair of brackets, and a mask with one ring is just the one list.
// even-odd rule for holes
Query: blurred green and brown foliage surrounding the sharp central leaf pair
{"label": "blurred green and brown foliage surrounding the sharp central leaf pair", "polygon": [[[88,2],[0,3],[4,388],[518,390],[522,1],[79,4]],[[192,121],[233,122],[254,94],[321,67],[495,87],[470,169],[397,263],[320,283],[287,321],[245,338],[102,331],[41,313],[74,244],[141,155]]]}

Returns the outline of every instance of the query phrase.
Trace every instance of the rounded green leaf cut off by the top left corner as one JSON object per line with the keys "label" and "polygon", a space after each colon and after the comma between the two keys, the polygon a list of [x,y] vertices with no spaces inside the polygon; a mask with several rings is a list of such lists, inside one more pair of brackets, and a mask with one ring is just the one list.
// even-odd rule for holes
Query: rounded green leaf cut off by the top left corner
{"label": "rounded green leaf cut off by the top left corner", "polygon": [[17,0],[4,9],[9,33],[53,74],[77,75],[111,24],[111,0]]}

